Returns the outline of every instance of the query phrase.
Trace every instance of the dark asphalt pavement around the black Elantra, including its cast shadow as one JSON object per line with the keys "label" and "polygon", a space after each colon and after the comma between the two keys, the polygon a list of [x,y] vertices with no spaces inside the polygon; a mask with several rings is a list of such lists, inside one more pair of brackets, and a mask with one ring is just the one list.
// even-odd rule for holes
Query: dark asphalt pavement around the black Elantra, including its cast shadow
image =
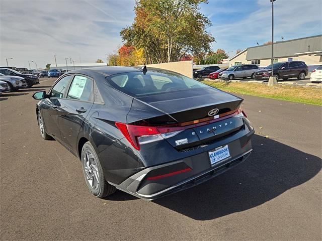
{"label": "dark asphalt pavement around the black Elantra, including its cast shadow", "polygon": [[32,94],[53,81],[0,96],[1,240],[321,239],[321,106],[241,95],[246,162],[156,201],[98,199],[79,160],[41,139]]}

